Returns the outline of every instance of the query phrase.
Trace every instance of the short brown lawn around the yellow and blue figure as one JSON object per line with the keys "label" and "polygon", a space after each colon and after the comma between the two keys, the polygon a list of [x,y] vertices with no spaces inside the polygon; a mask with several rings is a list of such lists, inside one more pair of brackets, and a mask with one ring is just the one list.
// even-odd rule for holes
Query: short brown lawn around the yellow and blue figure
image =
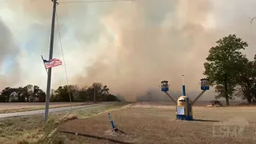
{"label": "short brown lawn around the yellow and blue figure", "polygon": [[[175,120],[175,106],[138,102],[111,112],[126,134],[112,132],[107,113],[76,119],[59,130],[66,143],[241,143],[256,142],[256,107],[194,107],[193,122]],[[89,134],[87,137],[79,134]],[[97,137],[97,138],[88,138]],[[110,140],[100,140],[110,138]]]}

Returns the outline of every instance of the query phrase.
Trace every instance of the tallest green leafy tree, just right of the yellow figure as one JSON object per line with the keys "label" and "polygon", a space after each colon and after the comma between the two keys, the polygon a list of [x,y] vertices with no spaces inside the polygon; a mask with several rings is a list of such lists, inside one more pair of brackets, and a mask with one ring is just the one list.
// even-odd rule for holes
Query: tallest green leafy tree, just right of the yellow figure
{"label": "tallest green leafy tree, just right of the yellow figure", "polygon": [[226,106],[229,106],[229,100],[233,99],[239,70],[243,67],[242,61],[246,57],[240,50],[244,50],[248,44],[237,38],[235,34],[218,40],[217,44],[218,46],[210,48],[203,74],[210,79],[211,86],[216,86],[217,98],[225,98]]}

